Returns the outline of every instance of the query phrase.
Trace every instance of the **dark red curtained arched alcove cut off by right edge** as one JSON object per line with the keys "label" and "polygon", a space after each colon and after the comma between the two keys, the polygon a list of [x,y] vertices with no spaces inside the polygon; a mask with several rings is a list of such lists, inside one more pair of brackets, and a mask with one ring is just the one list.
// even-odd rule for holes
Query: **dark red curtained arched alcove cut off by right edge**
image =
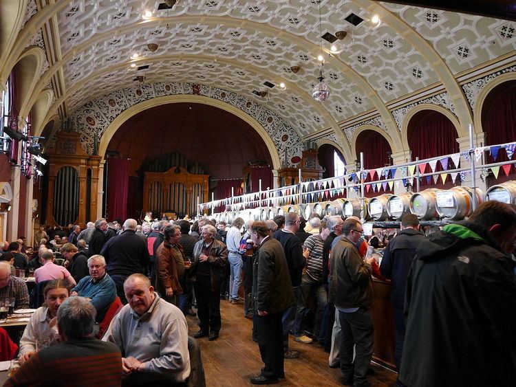
{"label": "dark red curtained arched alcove cut off by right edge", "polygon": [[[516,141],[516,80],[504,82],[488,93],[482,105],[482,128],[486,132],[486,145]],[[502,149],[496,159],[488,152],[485,153],[485,157],[486,163],[508,160],[506,152]],[[488,176],[488,185],[513,179],[516,179],[514,165],[510,167],[508,175],[502,168],[499,169],[497,178],[491,173]]]}

